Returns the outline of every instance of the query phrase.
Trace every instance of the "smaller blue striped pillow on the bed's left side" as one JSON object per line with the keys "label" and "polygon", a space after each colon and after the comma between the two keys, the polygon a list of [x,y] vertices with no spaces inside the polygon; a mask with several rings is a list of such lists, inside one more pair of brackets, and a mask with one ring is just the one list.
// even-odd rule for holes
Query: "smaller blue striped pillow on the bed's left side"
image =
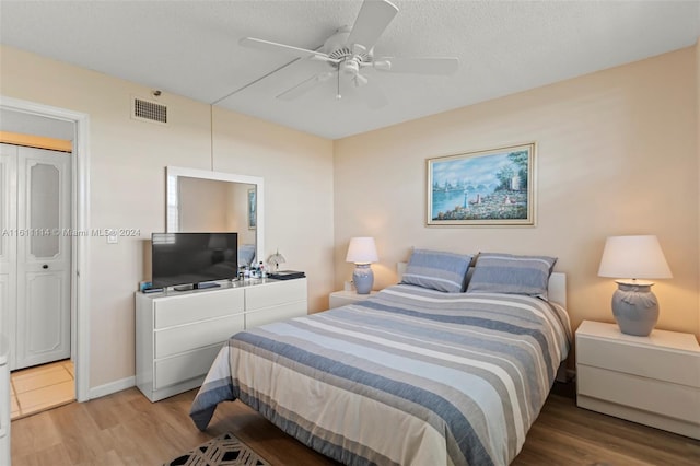
{"label": "smaller blue striped pillow on the bed's left side", "polygon": [[440,251],[413,249],[401,283],[459,293],[464,291],[471,257]]}

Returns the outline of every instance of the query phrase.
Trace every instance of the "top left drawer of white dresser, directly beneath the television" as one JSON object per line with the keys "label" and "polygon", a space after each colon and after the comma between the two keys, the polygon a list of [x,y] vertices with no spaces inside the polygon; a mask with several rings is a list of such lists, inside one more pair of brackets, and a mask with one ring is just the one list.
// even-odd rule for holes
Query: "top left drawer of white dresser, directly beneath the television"
{"label": "top left drawer of white dresser, directly beneath the television", "polygon": [[242,289],[207,290],[154,302],[155,328],[189,324],[244,311]]}

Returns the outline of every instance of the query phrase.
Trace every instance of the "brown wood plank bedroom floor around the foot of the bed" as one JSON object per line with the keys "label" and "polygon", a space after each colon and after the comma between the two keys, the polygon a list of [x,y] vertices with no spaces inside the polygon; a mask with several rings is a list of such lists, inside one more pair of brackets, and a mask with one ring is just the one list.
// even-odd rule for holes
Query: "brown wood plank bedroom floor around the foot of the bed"
{"label": "brown wood plank bedroom floor around the foot of the bed", "polygon": [[[700,464],[699,441],[579,409],[568,392],[549,396],[514,465]],[[335,464],[240,401],[220,405],[199,432],[187,415],[195,394],[152,404],[129,388],[12,421],[12,464],[160,465],[224,432],[272,465]]]}

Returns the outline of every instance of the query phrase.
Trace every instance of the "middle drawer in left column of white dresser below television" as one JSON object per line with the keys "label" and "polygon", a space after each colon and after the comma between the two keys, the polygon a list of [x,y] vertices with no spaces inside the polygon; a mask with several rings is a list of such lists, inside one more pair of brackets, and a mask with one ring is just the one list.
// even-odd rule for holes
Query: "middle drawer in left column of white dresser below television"
{"label": "middle drawer in left column of white dresser below television", "polygon": [[243,330],[243,313],[155,331],[155,358],[165,358],[228,340]]}

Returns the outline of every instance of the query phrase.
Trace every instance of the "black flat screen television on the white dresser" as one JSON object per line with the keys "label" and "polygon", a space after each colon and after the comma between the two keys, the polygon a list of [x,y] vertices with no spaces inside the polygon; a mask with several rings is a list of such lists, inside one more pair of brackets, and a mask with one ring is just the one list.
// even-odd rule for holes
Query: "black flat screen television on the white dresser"
{"label": "black flat screen television on the white dresser", "polygon": [[152,233],[151,245],[153,288],[206,288],[237,276],[237,233]]}

